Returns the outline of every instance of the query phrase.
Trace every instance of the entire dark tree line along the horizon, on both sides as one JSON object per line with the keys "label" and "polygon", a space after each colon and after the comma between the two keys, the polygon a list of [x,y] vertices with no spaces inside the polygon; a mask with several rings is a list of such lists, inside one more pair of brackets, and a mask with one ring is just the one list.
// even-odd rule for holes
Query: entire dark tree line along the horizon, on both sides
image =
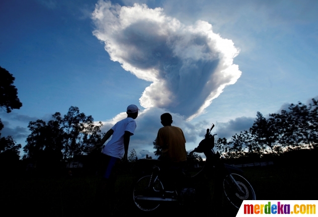
{"label": "entire dark tree line along the horizon, on both sides", "polygon": [[[17,88],[13,85],[14,77],[0,67],[0,108],[7,113],[22,106],[17,97]],[[265,118],[257,112],[254,124],[249,130],[236,134],[230,141],[219,138],[215,145],[226,158],[262,157],[265,154],[279,155],[282,152],[318,146],[318,101],[312,99],[309,105],[299,102],[291,104],[281,113],[269,114]],[[66,115],[56,112],[52,120],[29,122],[31,132],[23,147],[23,159],[34,162],[50,161],[58,163],[73,159],[77,155],[87,155],[88,150],[101,141],[102,123],[94,123],[92,116],[79,112],[71,106]],[[0,130],[3,124],[0,120]],[[153,143],[155,155],[160,155],[160,148]],[[0,137],[0,159],[19,160],[20,144],[11,136]],[[100,150],[101,148],[99,148]],[[136,151],[131,153],[130,161],[136,159]],[[198,154],[188,154],[190,161],[202,161]]]}

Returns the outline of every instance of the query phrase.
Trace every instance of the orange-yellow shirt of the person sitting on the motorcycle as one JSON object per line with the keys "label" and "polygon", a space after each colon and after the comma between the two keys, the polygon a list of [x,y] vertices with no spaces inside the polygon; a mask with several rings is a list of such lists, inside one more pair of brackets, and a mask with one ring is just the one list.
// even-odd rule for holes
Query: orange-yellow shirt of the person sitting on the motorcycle
{"label": "orange-yellow shirt of the person sitting on the motorcycle", "polygon": [[162,147],[162,159],[171,162],[181,162],[187,159],[185,138],[180,128],[165,126],[159,129],[157,145]]}

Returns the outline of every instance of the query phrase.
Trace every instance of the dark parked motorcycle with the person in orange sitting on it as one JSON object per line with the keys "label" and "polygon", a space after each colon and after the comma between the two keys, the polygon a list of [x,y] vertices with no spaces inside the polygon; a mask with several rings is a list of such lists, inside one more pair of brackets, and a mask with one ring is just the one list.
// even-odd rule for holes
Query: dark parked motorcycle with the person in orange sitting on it
{"label": "dark parked motorcycle with the person in orange sitting on it", "polygon": [[[179,202],[186,204],[193,202],[196,198],[196,184],[204,177],[214,177],[214,183],[222,189],[226,200],[235,208],[239,209],[243,200],[256,200],[255,192],[250,183],[243,177],[243,171],[237,167],[225,164],[220,158],[219,152],[213,150],[214,135],[211,129],[207,129],[205,139],[190,153],[204,153],[206,161],[204,167],[196,175],[187,176],[179,174],[177,185],[174,189],[167,189],[163,182],[161,172],[162,162],[157,159],[140,159],[137,161],[141,172],[140,178],[133,186],[133,201],[141,211],[154,211],[163,203]],[[140,169],[143,166],[144,169]],[[148,169],[145,167],[148,167]],[[221,186],[220,186],[221,185]]]}

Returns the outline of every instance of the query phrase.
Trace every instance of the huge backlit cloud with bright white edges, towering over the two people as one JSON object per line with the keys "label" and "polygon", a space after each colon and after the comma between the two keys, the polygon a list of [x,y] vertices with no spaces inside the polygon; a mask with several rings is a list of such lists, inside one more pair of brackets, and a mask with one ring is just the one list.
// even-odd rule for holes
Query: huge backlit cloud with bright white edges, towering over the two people
{"label": "huge backlit cloud with bright white edges, towering over the two people", "polygon": [[92,19],[93,34],[105,43],[111,60],[152,82],[139,99],[146,109],[167,109],[191,120],[241,75],[233,64],[239,50],[208,22],[184,25],[159,7],[102,0]]}

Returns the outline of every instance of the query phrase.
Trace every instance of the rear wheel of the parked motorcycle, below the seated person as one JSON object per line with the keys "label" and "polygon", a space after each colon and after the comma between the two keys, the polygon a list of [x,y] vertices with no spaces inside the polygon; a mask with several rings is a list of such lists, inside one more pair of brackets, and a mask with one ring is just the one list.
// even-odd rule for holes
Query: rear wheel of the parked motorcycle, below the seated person
{"label": "rear wheel of the parked motorcycle, below the seated person", "polygon": [[153,187],[150,187],[150,178],[150,175],[140,178],[136,182],[133,190],[134,203],[142,211],[154,211],[160,206],[159,201],[148,201],[138,199],[138,197],[162,196],[160,195],[163,192],[163,185],[161,181],[157,178]]}

